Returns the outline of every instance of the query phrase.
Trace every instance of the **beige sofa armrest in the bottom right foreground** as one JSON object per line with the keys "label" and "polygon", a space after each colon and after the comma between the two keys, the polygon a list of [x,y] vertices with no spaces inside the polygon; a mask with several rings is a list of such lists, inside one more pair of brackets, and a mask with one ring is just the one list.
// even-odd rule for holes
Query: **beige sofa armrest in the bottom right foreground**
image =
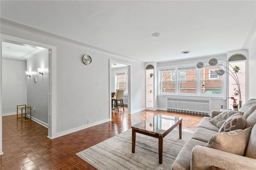
{"label": "beige sofa armrest in the bottom right foreground", "polygon": [[191,170],[255,170],[256,159],[196,145],[191,154]]}

